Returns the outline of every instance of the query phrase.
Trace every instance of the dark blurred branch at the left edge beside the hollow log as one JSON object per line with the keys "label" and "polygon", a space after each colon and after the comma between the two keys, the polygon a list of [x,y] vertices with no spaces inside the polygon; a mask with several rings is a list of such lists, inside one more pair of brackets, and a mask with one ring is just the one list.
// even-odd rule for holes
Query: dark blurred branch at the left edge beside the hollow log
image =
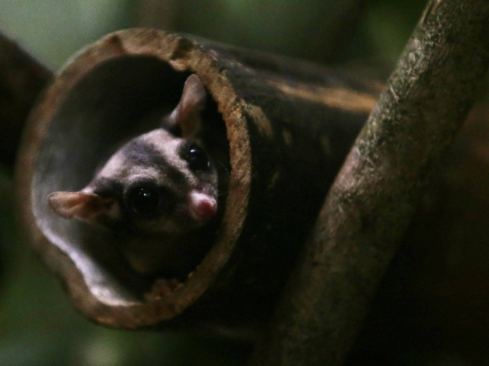
{"label": "dark blurred branch at the left edge beside the hollow log", "polygon": [[25,119],[51,72],[0,34],[0,162],[13,167]]}

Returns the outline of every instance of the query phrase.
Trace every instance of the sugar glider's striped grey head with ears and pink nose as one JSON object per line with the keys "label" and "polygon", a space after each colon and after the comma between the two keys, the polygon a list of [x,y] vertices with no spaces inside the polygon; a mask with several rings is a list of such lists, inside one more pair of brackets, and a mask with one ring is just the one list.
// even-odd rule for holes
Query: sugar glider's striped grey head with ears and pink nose
{"label": "sugar glider's striped grey head with ears and pink nose", "polygon": [[206,98],[199,77],[189,76],[162,128],[124,144],[82,190],[51,193],[49,206],[64,218],[141,233],[185,233],[212,220],[217,170],[198,139]]}

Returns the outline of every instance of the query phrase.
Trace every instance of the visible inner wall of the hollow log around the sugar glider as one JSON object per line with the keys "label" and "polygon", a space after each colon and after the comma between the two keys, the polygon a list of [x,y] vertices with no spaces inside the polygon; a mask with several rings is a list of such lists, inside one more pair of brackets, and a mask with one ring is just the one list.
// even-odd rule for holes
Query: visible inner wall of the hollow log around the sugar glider
{"label": "visible inner wall of the hollow log around the sugar glider", "polygon": [[[141,301],[155,278],[143,278],[128,268],[110,231],[59,217],[46,197],[55,191],[80,190],[121,142],[159,127],[155,116],[173,110],[188,75],[150,57],[105,62],[70,89],[41,143],[32,183],[37,224],[105,304]],[[163,285],[173,289],[176,284]]]}

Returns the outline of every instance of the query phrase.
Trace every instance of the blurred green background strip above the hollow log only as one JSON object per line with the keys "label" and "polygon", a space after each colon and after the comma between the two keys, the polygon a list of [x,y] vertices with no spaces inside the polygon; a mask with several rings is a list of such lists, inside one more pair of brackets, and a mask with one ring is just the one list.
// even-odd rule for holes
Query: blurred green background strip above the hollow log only
{"label": "blurred green background strip above the hollow log only", "polygon": [[[396,62],[425,2],[1,0],[0,29],[52,69],[83,45],[111,31],[142,24],[316,61],[368,62],[386,71]],[[338,22],[341,25],[351,4],[359,4],[358,19],[335,27]],[[324,52],[325,48],[330,51],[333,36],[339,38],[331,34],[332,29],[339,29],[344,37],[334,44],[334,52]]]}

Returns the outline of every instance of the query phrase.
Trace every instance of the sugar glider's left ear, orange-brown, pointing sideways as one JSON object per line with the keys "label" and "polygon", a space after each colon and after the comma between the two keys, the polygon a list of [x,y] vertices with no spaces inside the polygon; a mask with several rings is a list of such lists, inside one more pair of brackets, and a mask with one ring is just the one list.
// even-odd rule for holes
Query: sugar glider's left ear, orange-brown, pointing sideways
{"label": "sugar glider's left ear, orange-brown, pointing sideways", "polygon": [[93,222],[110,209],[111,198],[103,198],[95,193],[53,192],[47,196],[47,203],[58,215],[65,219],[78,218]]}

